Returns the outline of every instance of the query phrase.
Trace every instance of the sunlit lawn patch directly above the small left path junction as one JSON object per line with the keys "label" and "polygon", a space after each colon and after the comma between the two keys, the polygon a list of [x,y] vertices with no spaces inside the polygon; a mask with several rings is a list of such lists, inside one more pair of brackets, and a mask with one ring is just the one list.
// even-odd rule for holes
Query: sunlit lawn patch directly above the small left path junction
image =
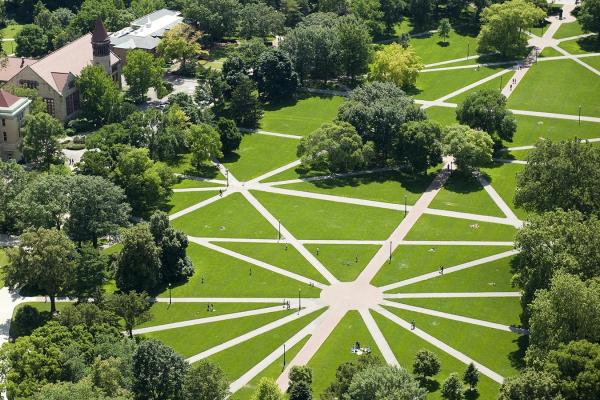
{"label": "sunlit lawn patch directly above the small left path junction", "polygon": [[240,181],[255,178],[297,159],[299,141],[260,134],[246,134],[239,150],[222,162]]}

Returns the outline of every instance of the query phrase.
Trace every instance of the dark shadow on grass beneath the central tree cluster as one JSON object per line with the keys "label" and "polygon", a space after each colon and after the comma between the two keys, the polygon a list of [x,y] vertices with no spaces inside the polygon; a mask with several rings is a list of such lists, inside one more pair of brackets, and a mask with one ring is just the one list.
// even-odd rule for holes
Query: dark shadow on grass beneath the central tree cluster
{"label": "dark shadow on grass beneath the central tree cluster", "polygon": [[431,183],[433,176],[434,174],[409,175],[400,171],[385,171],[359,176],[326,179],[312,182],[312,184],[321,189],[333,189],[339,187],[358,187],[373,182],[385,183],[394,181],[411,193],[423,193]]}

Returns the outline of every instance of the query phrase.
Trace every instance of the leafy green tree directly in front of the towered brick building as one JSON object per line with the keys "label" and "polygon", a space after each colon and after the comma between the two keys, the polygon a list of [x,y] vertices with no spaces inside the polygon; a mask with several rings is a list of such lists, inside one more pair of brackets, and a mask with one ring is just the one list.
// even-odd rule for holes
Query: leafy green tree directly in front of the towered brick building
{"label": "leafy green tree directly in front of the towered brick building", "polygon": [[85,67],[75,81],[75,85],[79,90],[83,117],[98,126],[120,120],[123,95],[101,66]]}

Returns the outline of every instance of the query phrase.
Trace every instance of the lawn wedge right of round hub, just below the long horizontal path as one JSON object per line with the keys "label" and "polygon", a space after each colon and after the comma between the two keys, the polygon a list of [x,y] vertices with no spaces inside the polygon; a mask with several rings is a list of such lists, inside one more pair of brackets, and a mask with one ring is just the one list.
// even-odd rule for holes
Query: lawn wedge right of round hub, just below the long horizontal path
{"label": "lawn wedge right of round hub, just below the long horizontal path", "polygon": [[384,286],[404,279],[460,265],[510,250],[507,246],[423,246],[401,245],[371,281]]}

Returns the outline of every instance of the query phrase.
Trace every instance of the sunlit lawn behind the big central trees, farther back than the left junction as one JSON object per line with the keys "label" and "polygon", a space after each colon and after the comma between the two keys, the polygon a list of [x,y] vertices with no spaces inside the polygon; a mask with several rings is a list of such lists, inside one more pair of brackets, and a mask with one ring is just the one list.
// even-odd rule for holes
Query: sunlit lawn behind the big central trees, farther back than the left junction
{"label": "sunlit lawn behind the big central trees, farther back than the left junction", "polygon": [[333,121],[343,102],[344,98],[339,96],[305,96],[292,103],[267,105],[260,128],[305,136],[323,123]]}

